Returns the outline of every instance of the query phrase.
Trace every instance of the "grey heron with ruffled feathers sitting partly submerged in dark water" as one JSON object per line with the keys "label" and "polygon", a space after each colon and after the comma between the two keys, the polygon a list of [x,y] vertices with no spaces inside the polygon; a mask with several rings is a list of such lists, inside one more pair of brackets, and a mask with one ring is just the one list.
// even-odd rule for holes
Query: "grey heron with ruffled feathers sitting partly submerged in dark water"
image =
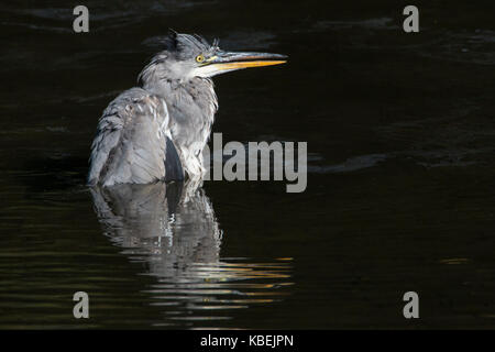
{"label": "grey heron with ruffled feathers sitting partly submerged in dark water", "polygon": [[212,77],[286,63],[286,55],[228,52],[215,40],[170,31],[163,50],[103,111],[91,144],[88,185],[201,178],[218,110]]}

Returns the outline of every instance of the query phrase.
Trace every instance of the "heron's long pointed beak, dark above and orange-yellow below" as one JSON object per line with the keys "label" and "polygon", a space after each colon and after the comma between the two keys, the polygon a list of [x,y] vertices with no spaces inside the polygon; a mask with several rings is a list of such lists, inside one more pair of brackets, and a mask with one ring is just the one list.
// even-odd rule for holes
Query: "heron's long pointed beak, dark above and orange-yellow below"
{"label": "heron's long pointed beak, dark above and orange-yellow below", "polygon": [[215,75],[248,67],[262,67],[285,64],[286,55],[270,53],[221,52],[206,61]]}

